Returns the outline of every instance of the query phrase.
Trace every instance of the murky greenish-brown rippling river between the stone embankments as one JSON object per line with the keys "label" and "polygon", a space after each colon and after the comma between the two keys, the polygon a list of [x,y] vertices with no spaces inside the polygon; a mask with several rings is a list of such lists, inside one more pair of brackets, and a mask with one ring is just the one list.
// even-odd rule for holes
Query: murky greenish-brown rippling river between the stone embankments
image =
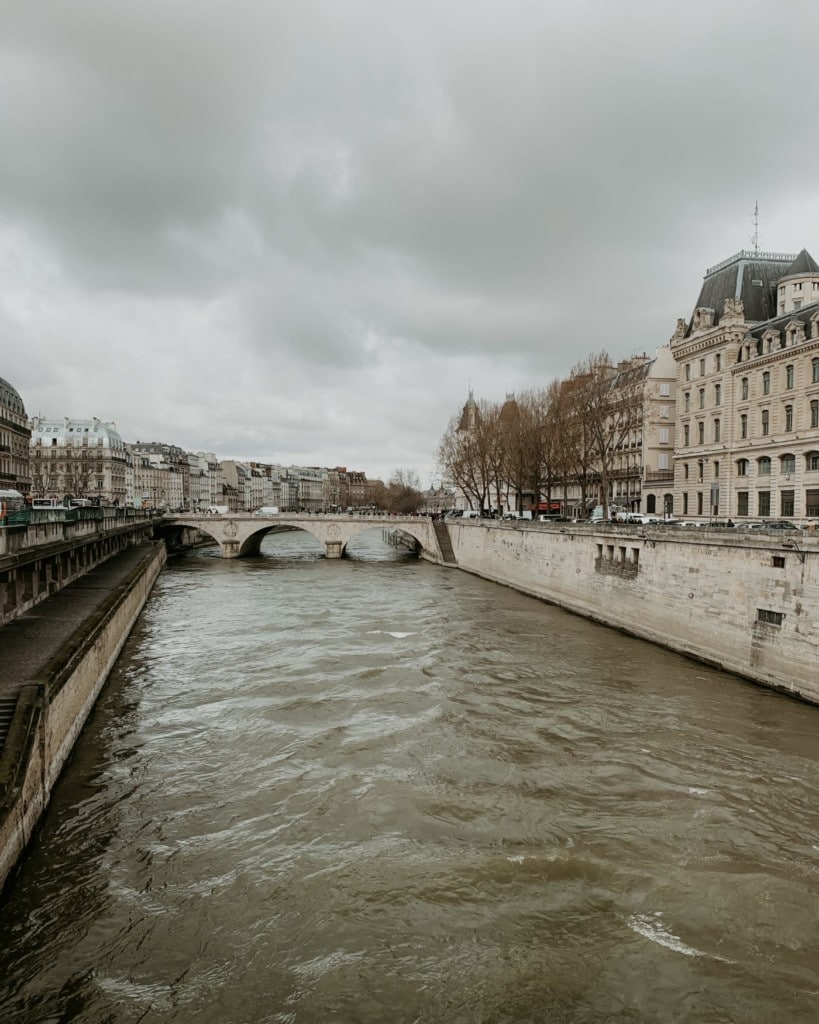
{"label": "murky greenish-brown rippling river between the stone embankments", "polygon": [[161,575],[3,1024],[815,1024],[819,709],[378,532]]}

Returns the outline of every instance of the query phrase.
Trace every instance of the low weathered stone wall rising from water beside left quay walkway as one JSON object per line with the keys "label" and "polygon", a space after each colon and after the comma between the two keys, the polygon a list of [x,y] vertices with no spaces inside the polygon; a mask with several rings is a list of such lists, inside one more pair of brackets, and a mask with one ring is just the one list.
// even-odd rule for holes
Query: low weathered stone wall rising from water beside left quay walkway
{"label": "low weathered stone wall rising from water beside left quay walkway", "polygon": [[149,552],[77,632],[41,679],[23,687],[0,757],[0,888],[26,848],[77,736],[166,560]]}

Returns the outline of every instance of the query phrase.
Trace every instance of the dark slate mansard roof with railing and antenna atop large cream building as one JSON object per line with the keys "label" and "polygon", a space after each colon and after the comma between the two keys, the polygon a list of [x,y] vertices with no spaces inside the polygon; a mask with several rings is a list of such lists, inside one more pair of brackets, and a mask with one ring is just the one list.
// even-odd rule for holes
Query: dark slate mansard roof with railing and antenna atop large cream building
{"label": "dark slate mansard roof with railing and antenna atop large cream building", "polygon": [[[739,252],[705,271],[694,308],[713,309],[716,326],[725,310],[725,300],[741,299],[745,319],[770,319],[777,310],[777,283],[799,259],[789,253]],[[688,334],[692,322],[688,325]]]}

